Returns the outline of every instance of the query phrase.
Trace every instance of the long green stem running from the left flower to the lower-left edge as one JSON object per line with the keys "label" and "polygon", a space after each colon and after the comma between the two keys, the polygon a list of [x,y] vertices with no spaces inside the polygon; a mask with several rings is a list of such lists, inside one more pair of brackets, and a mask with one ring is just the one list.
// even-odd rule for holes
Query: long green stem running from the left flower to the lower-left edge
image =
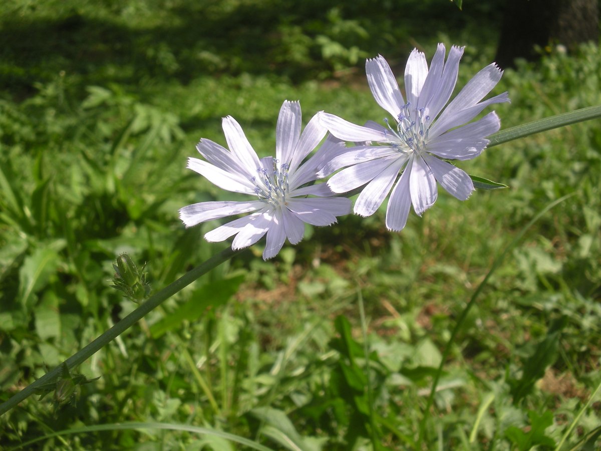
{"label": "long green stem running from the left flower to the lower-left edge", "polygon": [[[240,253],[240,251],[241,250],[233,251],[231,248],[227,248],[211,257],[206,262],[201,263],[191,271],[186,272],[186,274],[184,274],[182,277],[178,278],[173,283],[150,296],[150,298],[148,298],[144,304],[140,305],[138,308],[136,308],[136,310],[132,311],[132,313],[128,314],[125,318],[99,336],[96,340],[85,346],[85,348],[82,348],[81,351],[78,351],[71,357],[67,358],[67,360],[64,361],[64,364],[66,364],[69,369],[72,369],[73,367],[83,363],[91,355],[102,349],[107,343],[124,333],[124,331],[129,329],[135,322],[138,322],[139,319],[142,319],[145,314],[160,305],[163,301],[165,301],[165,299],[170,298],[175,293],[188,286],[197,280],[197,278],[199,278],[201,275],[206,274],[211,269],[216,268],[217,266],[221,265],[221,263],[231,259],[231,257],[237,253]],[[61,363],[52,371],[49,371],[41,376],[41,378],[37,379],[37,381],[23,388],[23,390],[19,391],[19,393],[12,396],[6,402],[0,404],[0,415],[7,413],[22,400],[34,394],[36,388],[40,388],[44,384],[55,382],[56,378],[58,378],[60,375],[61,366],[63,366],[63,363]]]}

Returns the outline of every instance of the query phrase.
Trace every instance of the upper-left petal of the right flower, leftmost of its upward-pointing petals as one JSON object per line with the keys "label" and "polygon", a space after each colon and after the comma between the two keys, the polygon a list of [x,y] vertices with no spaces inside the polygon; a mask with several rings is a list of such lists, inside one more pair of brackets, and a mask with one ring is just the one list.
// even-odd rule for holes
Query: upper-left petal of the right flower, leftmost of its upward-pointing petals
{"label": "upper-left petal of the right flower, leftmost of its upward-pointing petals", "polygon": [[374,99],[396,120],[405,102],[397,80],[382,55],[365,61],[365,73]]}

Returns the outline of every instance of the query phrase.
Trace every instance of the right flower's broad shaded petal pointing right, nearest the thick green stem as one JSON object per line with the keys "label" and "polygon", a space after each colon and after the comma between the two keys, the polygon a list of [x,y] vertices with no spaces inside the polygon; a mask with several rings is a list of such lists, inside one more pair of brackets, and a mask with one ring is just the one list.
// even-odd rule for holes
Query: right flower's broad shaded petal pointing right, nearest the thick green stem
{"label": "right flower's broad shaded petal pointing right, nearest the thick green stem", "polygon": [[475,122],[443,133],[433,143],[428,143],[426,150],[441,158],[469,160],[486,148],[489,140],[484,137],[498,132],[499,128],[501,121],[492,111]]}

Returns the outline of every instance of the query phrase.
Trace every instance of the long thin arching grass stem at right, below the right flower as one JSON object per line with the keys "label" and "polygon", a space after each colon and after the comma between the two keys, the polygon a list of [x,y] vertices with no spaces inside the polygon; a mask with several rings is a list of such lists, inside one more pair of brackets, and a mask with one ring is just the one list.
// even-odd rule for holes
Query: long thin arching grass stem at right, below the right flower
{"label": "long thin arching grass stem at right, below the right flower", "polygon": [[520,242],[520,240],[523,238],[523,236],[528,231],[528,229],[530,227],[532,227],[532,225],[534,225],[535,222],[538,221],[538,219],[542,218],[542,216],[545,215],[546,212],[548,212],[549,210],[551,210],[557,204],[560,204],[561,202],[563,202],[567,198],[572,197],[574,194],[575,193],[567,194],[567,195],[564,195],[563,197],[558,198],[557,200],[554,200],[548,206],[546,206],[540,212],[538,212],[538,214],[536,216],[534,216],[534,218],[532,218],[528,222],[528,224],[526,224],[522,228],[522,230],[520,230],[520,232],[510,242],[510,244],[508,244],[507,247],[505,247],[505,249],[503,250],[503,252],[498,257],[496,257],[495,261],[493,262],[492,266],[489,269],[489,272],[487,272],[486,276],[484,276],[484,279],[480,282],[480,284],[478,285],[478,287],[475,290],[474,294],[472,294],[471,299],[469,299],[468,305],[466,305],[463,308],[463,311],[461,312],[461,314],[459,316],[459,319],[457,319],[457,323],[455,324],[455,327],[453,328],[453,332],[451,333],[451,337],[448,340],[447,345],[445,346],[444,351],[442,352],[441,363],[438,366],[438,370],[436,370],[436,375],[434,377],[434,381],[432,382],[432,388],[430,388],[430,395],[428,396],[428,400],[427,400],[427,403],[426,403],[426,409],[424,410],[424,418],[421,420],[421,427],[419,428],[420,429],[419,435],[420,435],[420,438],[422,440],[424,438],[423,434],[424,434],[424,431],[425,431],[425,428],[426,428],[426,422],[427,422],[427,420],[428,420],[428,418],[430,416],[430,407],[432,407],[432,402],[434,400],[434,395],[436,393],[436,386],[438,385],[438,381],[441,378],[442,368],[444,367],[445,361],[447,360],[447,357],[448,357],[449,353],[451,352],[451,346],[453,346],[453,343],[455,342],[457,334],[459,333],[459,331],[463,327],[463,323],[465,322],[466,318],[468,318],[469,310],[474,305],[476,299],[478,298],[478,296],[480,295],[480,293],[484,289],[484,286],[486,286],[486,283],[489,280],[490,276],[496,271],[496,269],[499,268],[499,266],[501,266],[501,263],[503,262],[503,260],[505,260],[505,257],[507,256],[507,254],[509,254],[510,251],[516,246],[516,244],[518,242]]}

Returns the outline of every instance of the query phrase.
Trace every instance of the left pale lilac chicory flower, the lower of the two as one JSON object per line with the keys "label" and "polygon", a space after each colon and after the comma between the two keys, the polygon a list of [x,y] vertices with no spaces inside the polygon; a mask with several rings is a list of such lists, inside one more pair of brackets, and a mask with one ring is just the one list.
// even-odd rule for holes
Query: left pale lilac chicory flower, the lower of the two
{"label": "left pale lilac chicory flower, the lower of the two", "polygon": [[[320,143],[327,130],[315,115],[301,133],[301,105],[285,100],[279,110],[275,133],[275,154],[259,159],[246,139],[242,127],[228,116],[222,123],[230,150],[203,139],[198,152],[207,160],[189,158],[188,167],[227,191],[249,194],[248,201],[210,201],[180,209],[186,227],[239,213],[251,213],[234,219],[206,233],[207,241],[224,241],[236,235],[232,249],[250,246],[267,234],[263,259],[275,257],[288,238],[291,244],[301,241],[305,222],[331,225],[336,216],[350,213],[350,200],[332,197],[325,183],[307,185],[317,179],[317,170],[326,158],[346,149],[335,138],[325,141],[307,162],[302,161]],[[317,197],[307,197],[314,195]]]}

